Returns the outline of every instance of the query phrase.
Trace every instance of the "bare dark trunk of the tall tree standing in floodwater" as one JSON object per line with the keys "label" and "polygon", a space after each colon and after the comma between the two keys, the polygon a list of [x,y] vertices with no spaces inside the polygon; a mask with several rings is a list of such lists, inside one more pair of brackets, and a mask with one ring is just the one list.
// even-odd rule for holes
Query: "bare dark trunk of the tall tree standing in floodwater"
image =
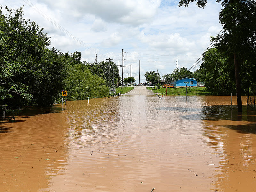
{"label": "bare dark trunk of the tall tree standing in floodwater", "polygon": [[236,58],[236,53],[234,53],[234,63],[235,63],[235,74],[236,74],[236,99],[237,99],[237,110],[242,112],[242,98],[241,98],[241,85],[240,85],[240,75],[239,75],[239,63]]}

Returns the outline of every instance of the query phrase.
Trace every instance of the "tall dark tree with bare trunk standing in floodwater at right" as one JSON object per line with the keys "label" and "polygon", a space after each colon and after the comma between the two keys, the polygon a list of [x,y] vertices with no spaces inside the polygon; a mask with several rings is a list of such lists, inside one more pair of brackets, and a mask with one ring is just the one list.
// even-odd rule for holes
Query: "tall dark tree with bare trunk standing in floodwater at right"
{"label": "tall dark tree with bare trunk standing in floodwater at right", "polygon": [[[207,0],[180,0],[179,6],[188,6],[197,2],[198,7],[205,7]],[[256,56],[256,1],[255,0],[217,0],[223,9],[220,12],[220,23],[224,34],[216,36],[217,48],[232,57],[235,65],[237,108],[242,111],[240,68],[244,63],[252,62]]]}

